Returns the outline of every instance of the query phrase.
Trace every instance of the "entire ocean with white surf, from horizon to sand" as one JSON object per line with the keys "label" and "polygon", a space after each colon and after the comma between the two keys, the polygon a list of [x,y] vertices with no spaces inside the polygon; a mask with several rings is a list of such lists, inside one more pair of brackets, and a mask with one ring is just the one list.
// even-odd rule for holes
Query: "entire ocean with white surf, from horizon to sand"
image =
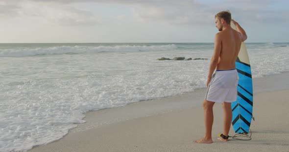
{"label": "entire ocean with white surf, from horizon to sand", "polygon": [[[253,78],[289,71],[289,43],[246,46]],[[58,140],[88,111],[205,88],[213,49],[214,43],[2,43],[0,152]]]}

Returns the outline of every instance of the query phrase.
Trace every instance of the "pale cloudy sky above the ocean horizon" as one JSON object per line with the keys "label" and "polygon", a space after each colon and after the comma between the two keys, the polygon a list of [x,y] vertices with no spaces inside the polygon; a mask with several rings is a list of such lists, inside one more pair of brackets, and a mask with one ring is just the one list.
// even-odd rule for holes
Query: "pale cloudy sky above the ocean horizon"
{"label": "pale cloudy sky above the ocean horizon", "polygon": [[0,0],[0,43],[214,42],[230,10],[246,42],[289,42],[289,0]]}

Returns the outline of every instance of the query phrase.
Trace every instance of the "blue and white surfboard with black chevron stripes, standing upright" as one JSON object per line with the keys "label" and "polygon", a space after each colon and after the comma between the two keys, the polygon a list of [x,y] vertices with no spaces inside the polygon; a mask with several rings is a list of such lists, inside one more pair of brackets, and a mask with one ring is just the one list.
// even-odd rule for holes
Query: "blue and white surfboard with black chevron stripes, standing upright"
{"label": "blue and white surfboard with black chevron stripes, standing upright", "polygon": [[[231,22],[231,27],[236,26]],[[232,126],[236,133],[249,133],[253,113],[253,85],[252,74],[247,48],[244,42],[236,60],[236,69],[239,75],[237,100],[232,102]]]}

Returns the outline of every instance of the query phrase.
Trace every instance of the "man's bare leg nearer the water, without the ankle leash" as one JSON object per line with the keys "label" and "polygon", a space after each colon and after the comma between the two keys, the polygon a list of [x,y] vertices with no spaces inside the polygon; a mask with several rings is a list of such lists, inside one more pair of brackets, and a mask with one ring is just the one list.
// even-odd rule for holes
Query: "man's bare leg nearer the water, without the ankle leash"
{"label": "man's bare leg nearer the water, without the ankle leash", "polygon": [[195,141],[196,143],[213,143],[212,140],[212,127],[214,121],[213,106],[215,102],[204,100],[204,120],[205,120],[205,136],[200,140]]}

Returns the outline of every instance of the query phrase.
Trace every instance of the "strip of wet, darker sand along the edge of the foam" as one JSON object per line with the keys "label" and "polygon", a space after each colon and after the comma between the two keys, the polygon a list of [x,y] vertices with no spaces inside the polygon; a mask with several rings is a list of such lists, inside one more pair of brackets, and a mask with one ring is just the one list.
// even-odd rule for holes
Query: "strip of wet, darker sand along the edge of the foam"
{"label": "strip of wet, darker sand along the edge of the foam", "polygon": [[[289,77],[289,72],[254,78],[253,94],[256,95],[265,92],[288,90],[289,82],[276,81],[276,79],[280,80],[285,79],[286,77]],[[81,132],[91,128],[104,127],[109,124],[140,117],[198,107],[202,105],[206,89],[207,88],[199,88],[193,92],[188,92],[181,95],[129,103],[123,107],[89,111],[85,113],[85,117],[83,119],[86,122],[77,124],[77,127],[72,128],[69,133]]]}

